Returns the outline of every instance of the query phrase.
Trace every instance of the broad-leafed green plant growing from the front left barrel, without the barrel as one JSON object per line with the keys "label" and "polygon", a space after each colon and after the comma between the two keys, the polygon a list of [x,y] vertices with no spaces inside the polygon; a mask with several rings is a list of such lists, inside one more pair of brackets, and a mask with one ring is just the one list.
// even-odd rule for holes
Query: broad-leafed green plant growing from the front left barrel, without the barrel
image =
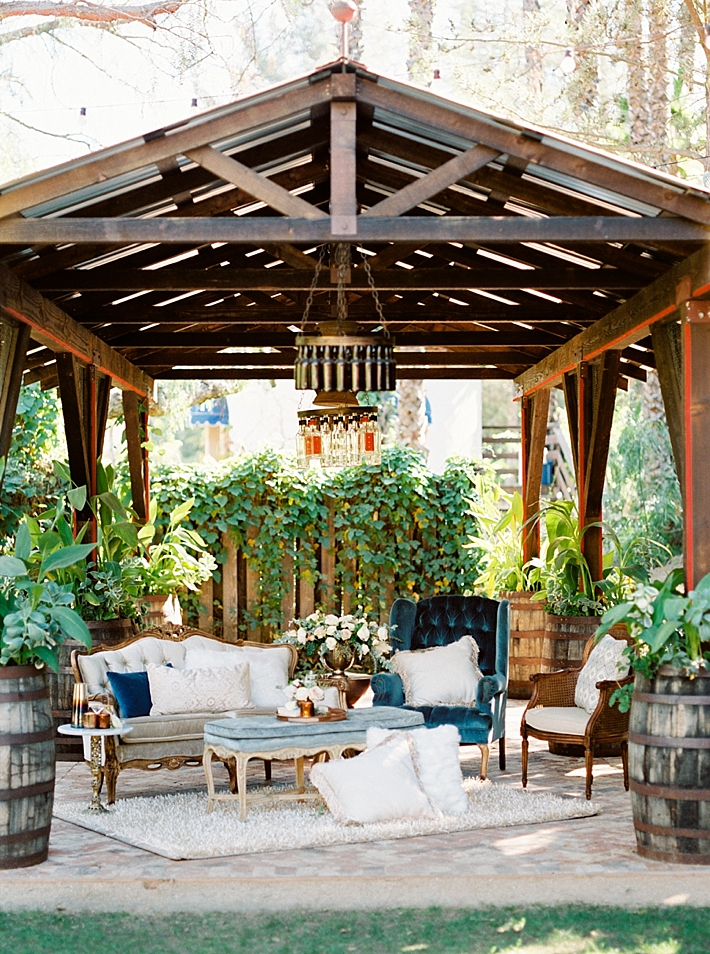
{"label": "broad-leafed green plant growing from the front left barrel, without the barrel", "polygon": [[[41,533],[25,520],[12,555],[0,557],[0,665],[46,664],[59,668],[57,648],[65,639],[91,646],[86,624],[71,607],[71,584],[60,584],[62,571],[86,560],[92,544],[53,544],[62,514]],[[33,532],[34,530],[34,532]]]}

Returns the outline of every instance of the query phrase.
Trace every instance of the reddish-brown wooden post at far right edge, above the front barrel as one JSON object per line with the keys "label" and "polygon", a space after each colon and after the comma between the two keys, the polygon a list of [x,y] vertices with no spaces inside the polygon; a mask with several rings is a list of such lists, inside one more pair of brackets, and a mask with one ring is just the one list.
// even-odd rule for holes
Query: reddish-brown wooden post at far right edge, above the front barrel
{"label": "reddish-brown wooden post at far right edge, above the front barrel", "polygon": [[686,585],[710,572],[710,303],[681,305],[683,322],[683,508]]}

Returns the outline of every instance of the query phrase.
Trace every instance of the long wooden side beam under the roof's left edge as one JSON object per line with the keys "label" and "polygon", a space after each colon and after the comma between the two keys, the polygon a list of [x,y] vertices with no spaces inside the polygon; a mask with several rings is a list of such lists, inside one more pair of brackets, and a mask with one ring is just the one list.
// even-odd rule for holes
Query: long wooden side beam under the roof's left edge
{"label": "long wooden side beam under the roof's left edge", "polygon": [[33,340],[55,354],[69,352],[94,365],[123,390],[142,396],[152,393],[153,382],[147,374],[4,266],[0,266],[0,308],[29,325]]}

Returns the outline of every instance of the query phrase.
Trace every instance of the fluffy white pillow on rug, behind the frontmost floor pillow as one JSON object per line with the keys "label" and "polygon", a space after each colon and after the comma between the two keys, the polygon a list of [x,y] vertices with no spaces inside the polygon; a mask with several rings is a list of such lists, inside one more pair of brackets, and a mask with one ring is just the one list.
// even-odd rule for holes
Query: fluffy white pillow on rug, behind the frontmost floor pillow
{"label": "fluffy white pillow on rug, behind the frontmost floor pillow", "polygon": [[[433,729],[407,729],[417,754],[419,781],[432,805],[445,815],[461,815],[468,811],[468,798],[463,787],[459,743],[461,736],[455,725],[439,725]],[[367,747],[381,745],[396,738],[401,730],[370,726]]]}

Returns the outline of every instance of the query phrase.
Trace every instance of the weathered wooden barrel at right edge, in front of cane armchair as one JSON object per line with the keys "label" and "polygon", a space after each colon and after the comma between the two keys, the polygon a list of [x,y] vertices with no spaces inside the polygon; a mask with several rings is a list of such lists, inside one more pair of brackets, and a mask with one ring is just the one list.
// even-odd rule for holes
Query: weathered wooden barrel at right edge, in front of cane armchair
{"label": "weathered wooden barrel at right edge, in front of cane armchair", "polygon": [[636,675],[629,787],[640,855],[710,864],[710,673]]}

